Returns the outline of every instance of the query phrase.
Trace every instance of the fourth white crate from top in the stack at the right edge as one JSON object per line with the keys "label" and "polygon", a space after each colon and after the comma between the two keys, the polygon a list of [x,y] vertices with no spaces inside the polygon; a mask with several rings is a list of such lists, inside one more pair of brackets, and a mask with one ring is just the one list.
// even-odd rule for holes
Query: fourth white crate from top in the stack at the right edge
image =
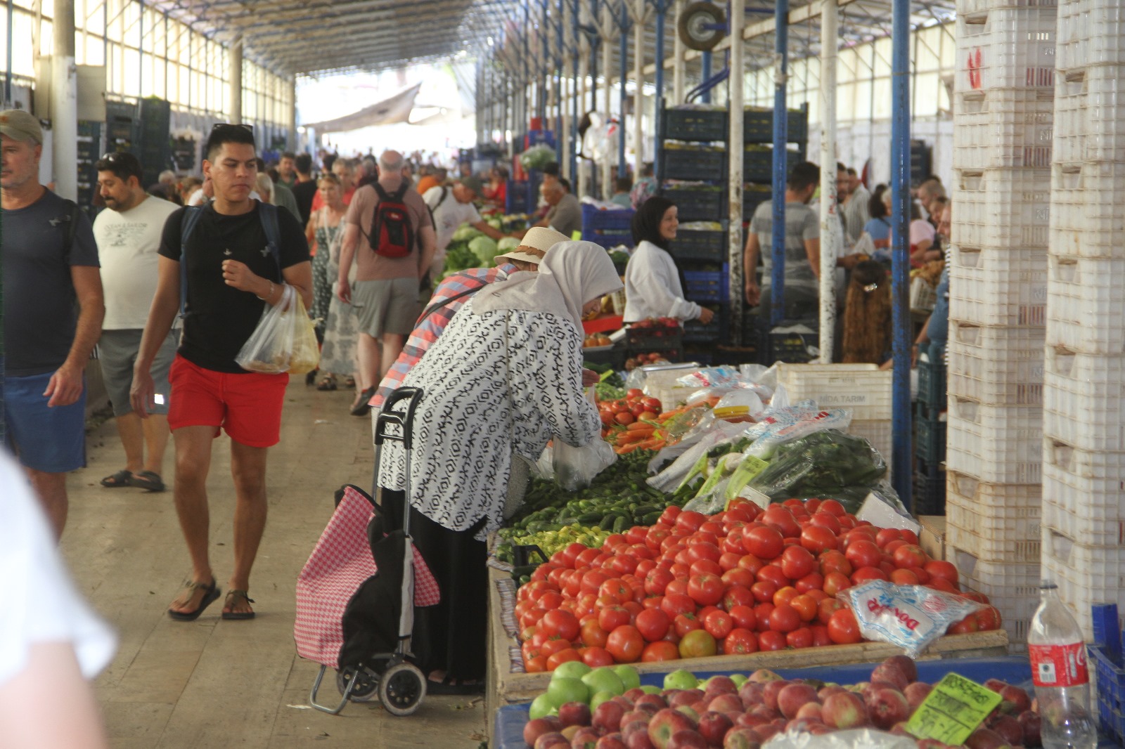
{"label": "fourth white crate from top in the stack at the right edge", "polygon": [[1125,258],[1047,262],[1047,345],[1098,354],[1125,353]]}

